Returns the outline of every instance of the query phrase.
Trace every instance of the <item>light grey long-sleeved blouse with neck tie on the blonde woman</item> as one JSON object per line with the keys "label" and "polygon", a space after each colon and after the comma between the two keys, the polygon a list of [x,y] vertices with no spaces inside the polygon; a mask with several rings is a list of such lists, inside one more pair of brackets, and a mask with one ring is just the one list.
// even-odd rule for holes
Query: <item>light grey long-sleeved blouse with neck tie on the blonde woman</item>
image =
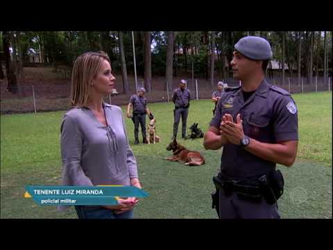
{"label": "light grey long-sleeved blouse with neck tie on the blonde woman", "polygon": [[138,178],[118,106],[103,103],[108,126],[89,108],[73,108],[62,119],[62,185],[130,185]]}

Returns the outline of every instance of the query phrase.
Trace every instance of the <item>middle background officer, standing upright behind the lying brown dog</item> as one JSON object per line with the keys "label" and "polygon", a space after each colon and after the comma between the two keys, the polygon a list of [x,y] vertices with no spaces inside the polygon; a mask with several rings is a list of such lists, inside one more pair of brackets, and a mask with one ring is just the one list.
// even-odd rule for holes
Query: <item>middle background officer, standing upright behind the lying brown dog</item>
{"label": "middle background officer, standing upright behind the lying brown dog", "polygon": [[189,100],[191,99],[191,94],[189,89],[186,88],[187,81],[184,79],[180,80],[179,88],[173,90],[172,101],[175,103],[175,109],[173,110],[173,137],[177,138],[178,124],[180,121],[180,116],[182,117],[182,138],[186,135],[186,122],[187,115],[189,115]]}

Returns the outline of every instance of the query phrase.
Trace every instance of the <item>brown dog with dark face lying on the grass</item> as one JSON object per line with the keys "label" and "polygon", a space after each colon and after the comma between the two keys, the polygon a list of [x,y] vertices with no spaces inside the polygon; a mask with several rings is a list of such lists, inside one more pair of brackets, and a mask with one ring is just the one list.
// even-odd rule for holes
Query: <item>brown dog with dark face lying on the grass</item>
{"label": "brown dog with dark face lying on the grass", "polygon": [[176,139],[174,139],[167,147],[167,151],[171,150],[173,156],[166,157],[166,160],[184,162],[185,165],[190,166],[200,166],[205,164],[205,158],[203,158],[198,151],[187,150],[184,146],[178,144]]}

